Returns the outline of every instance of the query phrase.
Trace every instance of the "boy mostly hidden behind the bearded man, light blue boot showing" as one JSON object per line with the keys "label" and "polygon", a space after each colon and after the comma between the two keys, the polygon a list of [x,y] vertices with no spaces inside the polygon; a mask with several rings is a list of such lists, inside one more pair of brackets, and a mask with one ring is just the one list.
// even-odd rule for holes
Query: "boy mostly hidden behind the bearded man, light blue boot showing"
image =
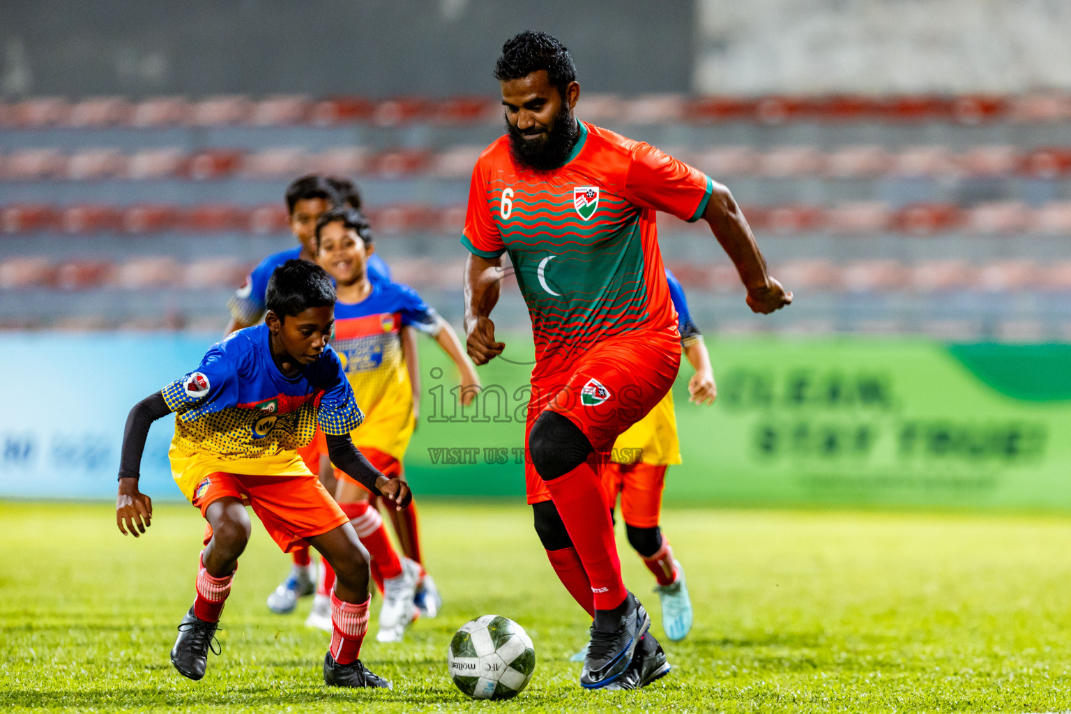
{"label": "boy mostly hidden behind the bearded man, light blue boot showing", "polygon": [[[695,374],[689,380],[689,400],[710,405],[718,396],[710,354],[703,335],[688,309],[684,290],[676,276],[666,270],[669,298],[677,310],[680,345]],[[692,603],[684,584],[684,571],[674,558],[669,541],[662,535],[659,516],[666,468],[680,464],[677,440],[677,415],[673,392],[666,392],[654,409],[629,427],[614,442],[610,462],[602,469],[602,485],[610,511],[621,497],[629,544],[644,559],[658,581],[655,592],[662,601],[662,626],[672,640],[681,640],[692,628]]]}

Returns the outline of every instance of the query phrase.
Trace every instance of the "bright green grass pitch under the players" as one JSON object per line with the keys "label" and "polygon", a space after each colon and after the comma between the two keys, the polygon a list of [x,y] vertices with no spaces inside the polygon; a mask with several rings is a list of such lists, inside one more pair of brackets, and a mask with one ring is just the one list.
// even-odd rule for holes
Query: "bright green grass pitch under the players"
{"label": "bright green grass pitch under the players", "polygon": [[[669,677],[610,694],[576,684],[579,665],[567,658],[587,623],[526,507],[425,502],[421,515],[443,611],[416,623],[405,643],[369,637],[363,658],[393,692],[347,692],[323,686],[328,638],[303,626],[308,603],[288,617],[266,608],[288,559],[259,526],[224,611],[223,655],[191,682],[168,651],[193,598],[196,511],[159,505],[135,541],[116,530],[108,504],[0,503],[0,711],[1071,709],[1066,519],[668,511],[695,627],[666,643]],[[633,553],[622,560],[661,635],[651,576]],[[518,621],[536,644],[534,678],[511,701],[469,701],[447,677],[451,635],[485,613]]]}

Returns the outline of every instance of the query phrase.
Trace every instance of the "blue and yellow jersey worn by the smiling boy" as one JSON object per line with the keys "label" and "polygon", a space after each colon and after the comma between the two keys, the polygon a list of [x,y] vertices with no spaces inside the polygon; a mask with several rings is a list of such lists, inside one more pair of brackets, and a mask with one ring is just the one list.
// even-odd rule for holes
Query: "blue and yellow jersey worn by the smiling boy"
{"label": "blue and yellow jersey worn by the smiling boy", "polygon": [[335,304],[331,346],[368,414],[387,398],[412,400],[402,356],[405,326],[432,335],[439,331],[438,314],[407,285],[373,283],[372,292],[361,302]]}

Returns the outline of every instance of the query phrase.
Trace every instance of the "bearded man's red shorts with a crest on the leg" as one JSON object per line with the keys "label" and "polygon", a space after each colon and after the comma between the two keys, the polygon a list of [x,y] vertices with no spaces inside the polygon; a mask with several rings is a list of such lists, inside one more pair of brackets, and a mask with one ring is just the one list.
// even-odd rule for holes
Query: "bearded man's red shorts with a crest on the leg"
{"label": "bearded man's red shorts with a crest on the leg", "polygon": [[525,426],[525,486],[528,503],[550,500],[543,478],[528,454],[528,435],[549,409],[576,424],[598,460],[609,460],[614,442],[662,400],[680,367],[676,331],[633,332],[595,344],[561,370],[532,371],[531,398]]}

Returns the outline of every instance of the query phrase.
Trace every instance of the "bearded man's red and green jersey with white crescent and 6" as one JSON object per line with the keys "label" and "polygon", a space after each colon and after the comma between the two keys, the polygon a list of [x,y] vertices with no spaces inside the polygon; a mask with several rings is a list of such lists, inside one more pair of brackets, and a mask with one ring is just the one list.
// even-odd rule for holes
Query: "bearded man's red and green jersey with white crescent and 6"
{"label": "bearded man's red and green jersey with white crescent and 6", "polygon": [[472,170],[462,243],[510,254],[528,304],[536,359],[572,362],[602,339],[675,331],[657,211],[697,221],[713,182],[654,147],[579,123],[565,163],[518,166],[502,136]]}

